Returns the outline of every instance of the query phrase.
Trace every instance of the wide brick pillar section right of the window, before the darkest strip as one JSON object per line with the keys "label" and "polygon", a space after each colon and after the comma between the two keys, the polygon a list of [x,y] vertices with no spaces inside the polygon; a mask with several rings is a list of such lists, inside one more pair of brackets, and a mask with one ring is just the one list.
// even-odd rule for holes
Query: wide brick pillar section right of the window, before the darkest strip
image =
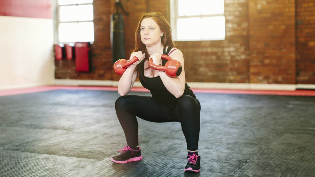
{"label": "wide brick pillar section right of the window, before the darkest strip", "polygon": [[295,84],[295,1],[249,0],[250,83]]}

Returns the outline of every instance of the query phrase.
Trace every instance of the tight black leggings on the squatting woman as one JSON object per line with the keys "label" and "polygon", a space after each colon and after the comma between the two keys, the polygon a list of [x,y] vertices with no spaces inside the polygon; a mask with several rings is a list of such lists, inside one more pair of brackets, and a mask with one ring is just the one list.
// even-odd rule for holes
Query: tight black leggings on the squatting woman
{"label": "tight black leggings on the squatting woman", "polygon": [[137,117],[150,122],[180,122],[187,150],[198,150],[200,103],[190,95],[181,96],[174,110],[158,104],[150,96],[126,95],[115,102],[116,114],[126,136],[127,145],[138,143]]}

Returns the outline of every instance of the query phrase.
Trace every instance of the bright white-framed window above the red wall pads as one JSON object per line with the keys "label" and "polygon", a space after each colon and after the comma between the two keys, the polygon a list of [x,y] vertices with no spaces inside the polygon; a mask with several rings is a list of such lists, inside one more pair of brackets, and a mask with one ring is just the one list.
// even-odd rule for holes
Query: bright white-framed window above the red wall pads
{"label": "bright white-framed window above the red wall pads", "polygon": [[93,0],[58,0],[58,41],[93,42]]}

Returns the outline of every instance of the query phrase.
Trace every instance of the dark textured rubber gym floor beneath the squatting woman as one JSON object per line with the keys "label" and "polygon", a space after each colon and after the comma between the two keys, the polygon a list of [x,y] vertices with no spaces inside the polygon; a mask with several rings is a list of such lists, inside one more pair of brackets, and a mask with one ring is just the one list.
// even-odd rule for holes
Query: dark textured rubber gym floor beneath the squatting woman
{"label": "dark textured rubber gym floor beneath the squatting woman", "polygon": [[279,93],[286,92],[196,91],[201,102],[198,174],[184,172],[180,123],[138,118],[143,160],[109,160],[126,144],[114,108],[115,89],[54,87],[3,94],[0,177],[315,176],[315,91]]}

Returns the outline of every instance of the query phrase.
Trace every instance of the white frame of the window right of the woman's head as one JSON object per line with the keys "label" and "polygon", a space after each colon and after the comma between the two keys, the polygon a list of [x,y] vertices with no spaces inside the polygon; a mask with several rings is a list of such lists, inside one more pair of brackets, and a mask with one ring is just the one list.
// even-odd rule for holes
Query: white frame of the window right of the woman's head
{"label": "white frame of the window right of the woman's head", "polygon": [[[170,26],[172,28],[172,38],[173,41],[221,41],[225,40],[226,38],[226,21],[224,23],[225,25],[225,37],[224,38],[198,38],[198,39],[177,39],[177,20],[178,19],[184,19],[184,18],[194,18],[194,17],[221,17],[223,16],[225,18],[225,9],[223,14],[209,14],[209,15],[185,15],[185,16],[180,16],[178,15],[178,1],[179,0],[169,0],[170,3]],[[224,2],[224,0],[223,0]]]}

